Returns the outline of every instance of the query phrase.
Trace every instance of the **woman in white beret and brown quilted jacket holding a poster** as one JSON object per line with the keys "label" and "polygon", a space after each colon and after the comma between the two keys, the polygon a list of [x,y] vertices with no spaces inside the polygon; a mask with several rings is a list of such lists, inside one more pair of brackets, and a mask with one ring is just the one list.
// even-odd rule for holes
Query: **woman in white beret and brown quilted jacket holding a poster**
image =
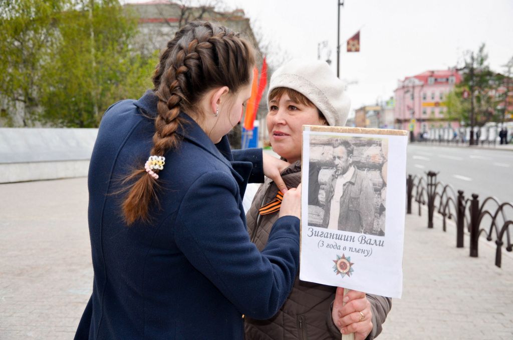
{"label": "woman in white beret and brown quilted jacket holding a poster", "polygon": [[[350,101],[344,90],[342,81],[324,61],[292,60],[272,75],[267,130],[273,151],[290,163],[282,172],[287,187],[296,187],[301,181],[302,126],[346,123]],[[278,219],[279,206],[272,204],[278,194],[278,187],[267,179],[246,214],[251,241],[259,249],[267,244],[272,224]],[[356,340],[375,338],[391,300],[349,291],[342,306],[342,297],[342,288],[304,282],[298,276],[276,315],[266,321],[246,316],[246,338],[340,339],[341,333],[354,333]]]}

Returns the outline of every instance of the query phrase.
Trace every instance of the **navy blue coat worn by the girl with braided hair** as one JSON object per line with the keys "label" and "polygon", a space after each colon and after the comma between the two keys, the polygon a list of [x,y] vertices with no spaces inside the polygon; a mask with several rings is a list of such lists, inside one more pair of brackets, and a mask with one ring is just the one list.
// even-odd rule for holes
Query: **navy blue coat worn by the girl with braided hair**
{"label": "navy blue coat worn by the girl with braided hair", "polygon": [[89,168],[93,292],[75,339],[242,339],[243,314],[266,319],[289,294],[299,266],[299,219],[279,219],[260,252],[249,240],[242,195],[262,181],[262,151],[231,153],[189,116],[179,150],[157,180],[151,223],[123,223],[121,180],[143,168],[156,97],[105,113]]}

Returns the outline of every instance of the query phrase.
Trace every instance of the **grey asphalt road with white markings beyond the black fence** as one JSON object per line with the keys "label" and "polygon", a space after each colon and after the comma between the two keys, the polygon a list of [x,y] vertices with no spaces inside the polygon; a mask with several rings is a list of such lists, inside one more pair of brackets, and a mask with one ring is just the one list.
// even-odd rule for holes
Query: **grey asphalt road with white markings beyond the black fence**
{"label": "grey asphalt road with white markings beyond the black fence", "polygon": [[465,197],[513,202],[513,151],[409,144],[406,173],[426,177],[428,171],[439,172],[437,180],[463,190]]}

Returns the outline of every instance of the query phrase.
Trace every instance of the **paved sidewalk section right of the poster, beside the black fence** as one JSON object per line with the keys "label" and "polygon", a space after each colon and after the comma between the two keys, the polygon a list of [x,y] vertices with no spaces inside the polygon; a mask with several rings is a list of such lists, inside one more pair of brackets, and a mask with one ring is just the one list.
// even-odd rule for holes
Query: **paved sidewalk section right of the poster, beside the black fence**
{"label": "paved sidewalk section right of the poster, beside the black fence", "polygon": [[495,266],[495,242],[482,236],[479,257],[469,257],[469,237],[456,248],[456,227],[442,230],[439,215],[427,228],[422,216],[406,215],[403,296],[392,301],[380,340],[513,339],[513,256],[502,251]]}

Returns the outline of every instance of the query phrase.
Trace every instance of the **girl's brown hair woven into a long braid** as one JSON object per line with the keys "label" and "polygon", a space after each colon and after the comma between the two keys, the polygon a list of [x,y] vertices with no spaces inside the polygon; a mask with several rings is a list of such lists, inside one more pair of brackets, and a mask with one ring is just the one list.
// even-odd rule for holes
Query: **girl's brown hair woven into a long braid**
{"label": "girl's brown hair woven into a long braid", "polygon": [[[196,21],[178,31],[161,54],[153,75],[159,101],[150,155],[164,156],[179,146],[180,137],[175,132],[186,124],[180,111],[201,119],[198,103],[202,96],[223,86],[232,94],[238,92],[249,83],[254,63],[253,47],[226,27]],[[149,205],[158,202],[157,180],[141,169],[125,182],[132,183],[122,204],[126,223],[147,222]]]}

